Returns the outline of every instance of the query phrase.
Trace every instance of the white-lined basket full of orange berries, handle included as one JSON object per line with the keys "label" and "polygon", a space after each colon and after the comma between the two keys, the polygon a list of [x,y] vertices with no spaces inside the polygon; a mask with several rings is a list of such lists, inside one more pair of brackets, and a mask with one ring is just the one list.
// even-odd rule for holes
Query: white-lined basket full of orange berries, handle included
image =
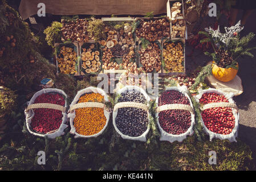
{"label": "white-lined basket full of orange berries, handle included", "polygon": [[75,138],[98,137],[106,129],[110,112],[105,106],[108,96],[104,90],[88,87],[80,90],[70,105],[70,133]]}

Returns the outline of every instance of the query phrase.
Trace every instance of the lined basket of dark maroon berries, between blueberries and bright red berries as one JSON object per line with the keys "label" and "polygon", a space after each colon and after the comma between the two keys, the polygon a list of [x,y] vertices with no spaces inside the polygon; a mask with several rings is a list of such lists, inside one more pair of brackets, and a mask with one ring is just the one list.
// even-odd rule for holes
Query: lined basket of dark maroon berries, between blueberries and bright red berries
{"label": "lined basket of dark maroon berries, between blueberries and bright red berries", "polygon": [[186,86],[166,87],[165,92],[156,98],[160,140],[182,142],[187,135],[194,133],[194,109],[187,92]]}

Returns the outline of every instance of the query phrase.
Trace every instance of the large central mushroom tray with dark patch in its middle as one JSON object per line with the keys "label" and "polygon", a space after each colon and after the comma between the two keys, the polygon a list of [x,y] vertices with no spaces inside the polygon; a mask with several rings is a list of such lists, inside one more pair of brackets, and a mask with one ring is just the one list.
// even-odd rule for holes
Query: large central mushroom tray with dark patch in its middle
{"label": "large central mushroom tray with dark patch in its middle", "polygon": [[106,39],[103,46],[104,73],[123,73],[124,64],[134,62],[135,34],[132,34],[133,18],[102,18],[105,24]]}

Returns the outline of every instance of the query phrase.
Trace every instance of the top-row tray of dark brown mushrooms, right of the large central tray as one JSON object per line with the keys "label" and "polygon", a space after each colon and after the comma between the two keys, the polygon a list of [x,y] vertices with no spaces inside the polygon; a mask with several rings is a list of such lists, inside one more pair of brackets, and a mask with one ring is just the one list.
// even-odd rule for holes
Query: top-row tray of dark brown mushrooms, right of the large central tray
{"label": "top-row tray of dark brown mushrooms, right of the large central tray", "polygon": [[[136,27],[136,41],[141,38],[147,39],[149,42],[170,38],[171,23],[168,16],[153,18],[136,18],[139,24]],[[155,23],[159,22],[159,23]]]}

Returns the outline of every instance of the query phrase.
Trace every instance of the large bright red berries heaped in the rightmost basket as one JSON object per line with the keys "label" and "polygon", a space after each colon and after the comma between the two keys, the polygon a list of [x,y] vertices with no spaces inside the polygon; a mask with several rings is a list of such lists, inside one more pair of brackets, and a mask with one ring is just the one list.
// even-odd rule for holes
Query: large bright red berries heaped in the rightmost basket
{"label": "large bright red berries heaped in the rightmost basket", "polygon": [[[200,98],[200,104],[213,102],[229,102],[225,96],[217,93],[204,93]],[[202,120],[205,126],[212,132],[228,135],[235,126],[235,117],[230,107],[213,107],[202,111]]]}

